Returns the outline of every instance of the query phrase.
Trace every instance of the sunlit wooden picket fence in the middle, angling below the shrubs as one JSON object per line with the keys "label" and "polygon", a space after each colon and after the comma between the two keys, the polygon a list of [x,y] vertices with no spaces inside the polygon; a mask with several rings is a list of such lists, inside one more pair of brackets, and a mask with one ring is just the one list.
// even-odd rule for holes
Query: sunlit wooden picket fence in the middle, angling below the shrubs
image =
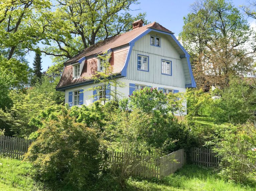
{"label": "sunlit wooden picket fence in the middle, angling below the shrubs", "polygon": [[110,156],[113,164],[121,164],[129,162],[130,172],[132,176],[141,178],[163,178],[168,176],[182,166],[186,162],[184,149],[174,151],[160,158],[151,159],[149,155],[137,156],[133,155],[129,158],[122,152],[113,152]]}

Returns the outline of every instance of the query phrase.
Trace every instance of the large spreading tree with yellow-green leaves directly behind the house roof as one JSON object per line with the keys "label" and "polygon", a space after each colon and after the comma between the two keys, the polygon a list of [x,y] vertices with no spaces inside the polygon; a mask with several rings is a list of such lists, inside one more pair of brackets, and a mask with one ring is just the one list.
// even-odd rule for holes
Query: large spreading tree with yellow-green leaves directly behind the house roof
{"label": "large spreading tree with yellow-green leaves directly behind the house roof", "polygon": [[[63,62],[100,40],[132,29],[132,23],[146,14],[127,13],[138,0],[58,0],[55,11],[47,11],[41,26],[45,54]],[[147,23],[147,21],[144,21]]]}

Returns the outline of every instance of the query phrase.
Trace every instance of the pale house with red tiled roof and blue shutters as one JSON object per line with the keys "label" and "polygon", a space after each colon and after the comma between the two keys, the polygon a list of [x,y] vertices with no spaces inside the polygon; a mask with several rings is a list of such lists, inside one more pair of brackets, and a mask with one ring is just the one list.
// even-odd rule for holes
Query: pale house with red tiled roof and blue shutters
{"label": "pale house with red tiled roof and blue shutters", "polygon": [[102,95],[110,97],[108,92],[94,96],[96,90],[85,91],[100,85],[91,77],[102,70],[98,55],[106,51],[111,55],[109,63],[116,74],[114,77],[126,85],[109,88],[119,88],[123,97],[145,86],[157,87],[167,93],[185,92],[188,87],[196,87],[190,55],[174,33],[157,22],[143,26],[143,21],[139,20],[133,23],[132,31],[100,41],[64,63],[56,90],[65,92],[65,103],[69,106],[89,105]]}

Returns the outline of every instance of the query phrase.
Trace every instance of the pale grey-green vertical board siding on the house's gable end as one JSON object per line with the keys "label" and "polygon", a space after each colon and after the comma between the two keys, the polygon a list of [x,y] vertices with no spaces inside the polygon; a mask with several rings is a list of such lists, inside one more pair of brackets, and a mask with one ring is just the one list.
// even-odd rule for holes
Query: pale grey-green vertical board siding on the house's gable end
{"label": "pale grey-green vertical board siding on the house's gable end", "polygon": [[[150,35],[155,35],[161,38],[161,47],[150,45]],[[149,56],[149,72],[137,70],[138,54]],[[191,80],[188,67],[186,66],[187,60],[186,58],[180,58],[180,55],[181,51],[178,45],[175,45],[170,37],[151,32],[135,43],[127,66],[127,76],[125,78],[184,88],[185,84],[188,84],[189,82],[191,83]],[[172,61],[172,76],[162,74],[162,59]]]}

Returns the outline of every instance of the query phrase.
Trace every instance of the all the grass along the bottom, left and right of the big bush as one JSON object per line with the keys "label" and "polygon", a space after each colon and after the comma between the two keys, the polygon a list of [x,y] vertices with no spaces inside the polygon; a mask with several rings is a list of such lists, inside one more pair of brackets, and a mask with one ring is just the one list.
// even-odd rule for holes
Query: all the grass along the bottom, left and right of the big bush
{"label": "all the grass along the bottom, left and right of the big bush", "polygon": [[[37,184],[30,177],[31,164],[16,159],[0,158],[0,191],[38,191]],[[103,181],[104,182],[104,181]],[[96,183],[93,190],[118,191],[111,187],[111,180]],[[96,188],[97,187],[97,188]],[[41,189],[43,190],[43,189]],[[63,190],[57,189],[54,190]],[[71,189],[72,190],[72,189]],[[84,189],[87,190],[87,189]],[[163,180],[130,178],[126,191],[253,191],[255,188],[227,183],[212,169],[186,165]]]}

